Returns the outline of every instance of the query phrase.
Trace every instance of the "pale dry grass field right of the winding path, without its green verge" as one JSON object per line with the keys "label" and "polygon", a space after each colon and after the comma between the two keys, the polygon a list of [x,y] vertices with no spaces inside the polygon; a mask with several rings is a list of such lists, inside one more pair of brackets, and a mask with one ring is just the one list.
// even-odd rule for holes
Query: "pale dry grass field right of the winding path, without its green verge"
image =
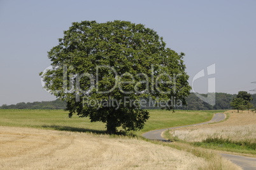
{"label": "pale dry grass field right of the winding path, without its green verge", "polygon": [[169,133],[189,142],[203,141],[208,137],[229,138],[233,141],[241,139],[256,141],[256,113],[248,113],[248,111],[237,113],[236,110],[225,113],[229,113],[229,118],[224,122],[174,129]]}

